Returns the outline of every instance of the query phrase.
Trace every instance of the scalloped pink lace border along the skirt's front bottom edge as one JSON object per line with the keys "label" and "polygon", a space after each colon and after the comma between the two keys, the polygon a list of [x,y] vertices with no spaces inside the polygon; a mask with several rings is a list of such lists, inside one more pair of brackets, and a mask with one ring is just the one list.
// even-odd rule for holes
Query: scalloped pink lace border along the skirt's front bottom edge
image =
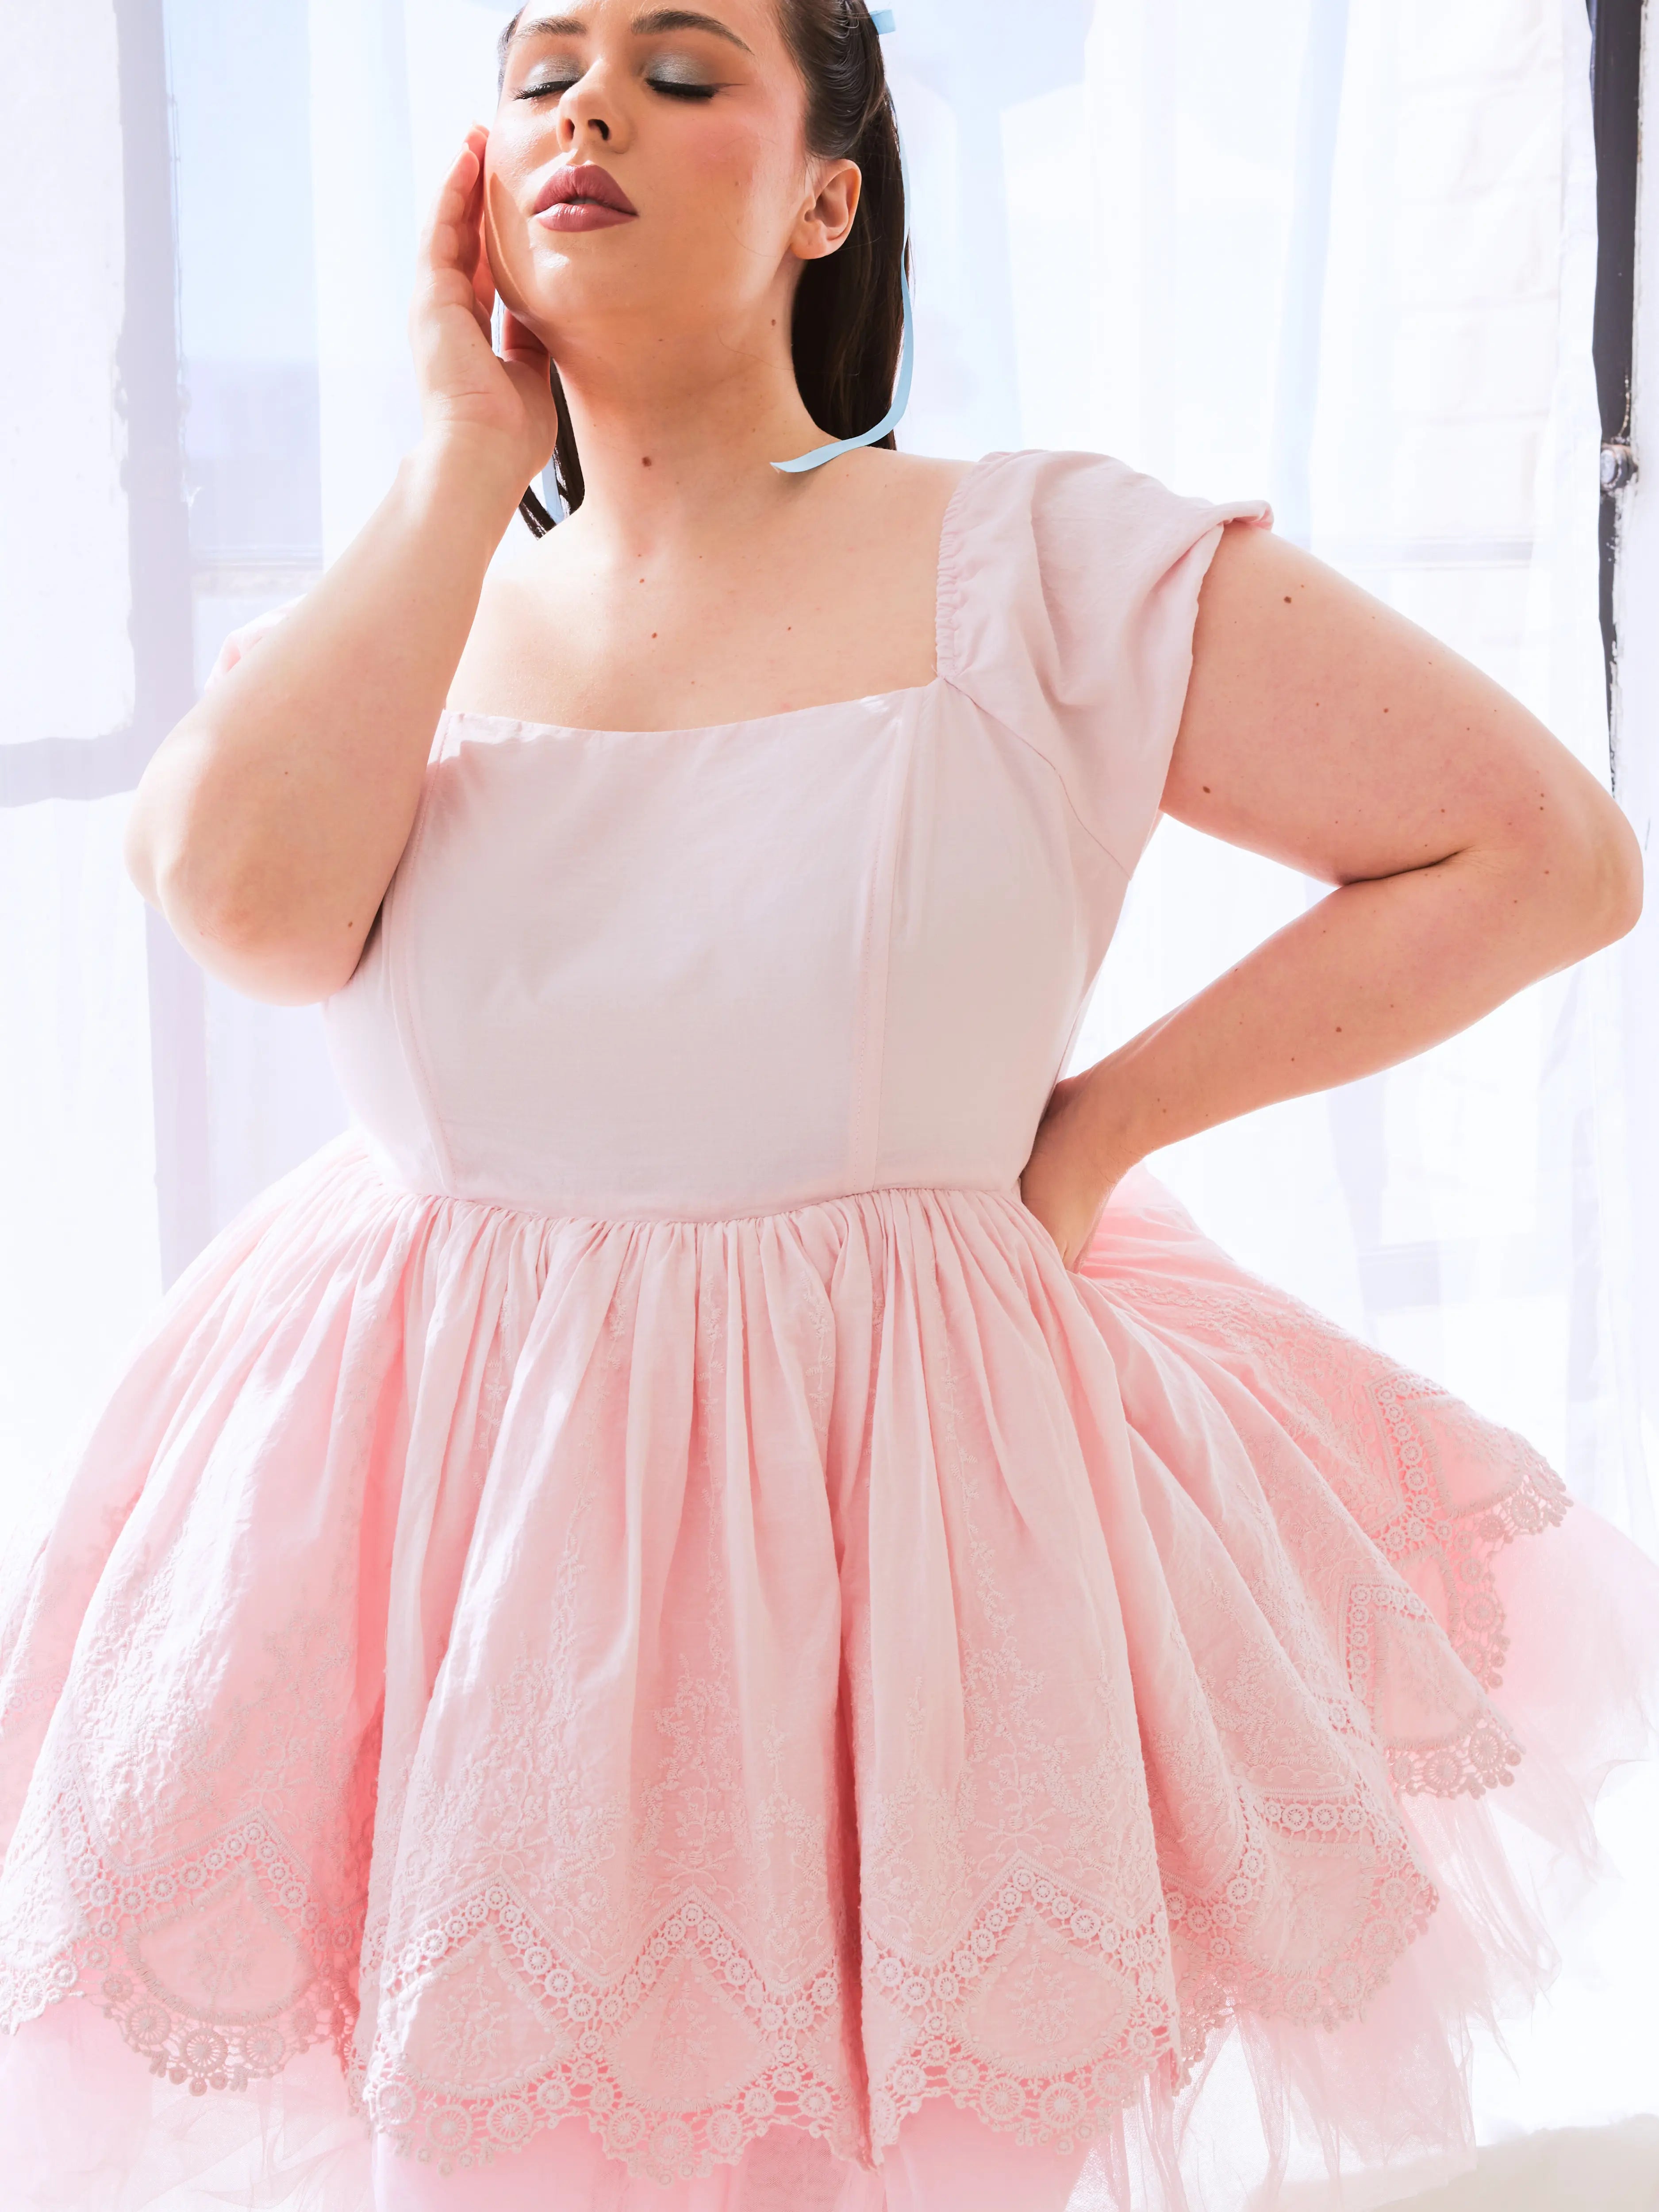
{"label": "scalloped pink lace border along the skirt's front bottom edge", "polygon": [[[1303,1978],[1239,1971],[1234,1931],[1263,1902],[1270,1854],[1263,1823],[1285,1834],[1332,1829],[1378,1843],[1374,1880],[1345,1953]],[[852,2163],[878,2163],[900,2124],[949,2097],[1020,2143],[1071,2150],[1097,2137],[1141,2095],[1148,2075],[1170,2093],[1197,2070],[1210,2037],[1243,2008],[1265,2017],[1354,2017],[1436,1905],[1402,1840],[1383,1840],[1358,1798],[1349,1807],[1267,1801],[1234,1871],[1203,1898],[1168,1893],[1168,1918],[1115,1929],[1093,1898],[1020,1863],[993,1885],[962,1938],[938,1960],[867,1947],[863,2026],[889,2057],[872,2070],[869,2124],[836,2081],[845,1978],[825,1964],[794,1991],[772,1991],[743,1947],[701,1900],[666,1916],[635,1969],[599,1989],[560,1960],[507,1885],[487,1885],[440,1929],[409,1944],[383,2000],[396,2028],[416,1989],[427,1997],[427,2064],[462,2057],[434,2031],[429,1993],[453,1993],[449,2026],[465,2062],[493,2066],[491,2088],[458,2095],[376,2042],[367,2075],[347,2059],[356,2006],[343,1982],[314,1969],[299,1995],[241,2015],[184,2006],[155,1969],[168,1936],[190,1924],[199,1966],[215,1944],[248,1953],[257,1918],[310,1969],[296,1929],[312,1940],[330,1916],[301,1902],[292,1867],[261,1823],[241,1823],[190,1865],[144,1878],[91,1871],[86,1898],[102,1918],[88,1936],[7,1993],[20,2026],[69,1995],[95,2002],[150,2070],[195,2095],[243,2090],[301,2051],[330,2042],[347,2068],[352,2104],[394,2148],[440,2172],[489,2166],[498,2152],[577,2112],[608,2157],[668,2183],[737,2161],[774,2124],[827,2139]],[[175,1909],[177,1907],[177,1909]],[[292,1920],[288,1916],[294,1916]],[[341,1927],[332,1940],[338,1944]],[[272,1953],[263,1973],[270,1975]],[[301,1964],[303,1962],[303,1964]],[[1172,1975],[1172,1980],[1170,1980]],[[243,1997],[257,1995],[243,1991]],[[1048,2064],[1009,2064],[998,2046],[1015,2033],[1046,2039]],[[540,2053],[535,2044],[540,2042]],[[1082,2048],[1079,2048],[1082,2046]],[[650,2086],[641,2064],[650,2059]],[[540,2059],[540,2064],[538,2064]],[[504,2073],[518,2070],[515,2079]],[[666,2068],[666,2070],[664,2070]],[[728,2081],[717,2077],[726,2070]],[[741,2075],[732,2081],[730,2075]],[[703,2097],[697,2097],[697,2090]],[[726,2088],[726,2095],[710,2090]]]}

